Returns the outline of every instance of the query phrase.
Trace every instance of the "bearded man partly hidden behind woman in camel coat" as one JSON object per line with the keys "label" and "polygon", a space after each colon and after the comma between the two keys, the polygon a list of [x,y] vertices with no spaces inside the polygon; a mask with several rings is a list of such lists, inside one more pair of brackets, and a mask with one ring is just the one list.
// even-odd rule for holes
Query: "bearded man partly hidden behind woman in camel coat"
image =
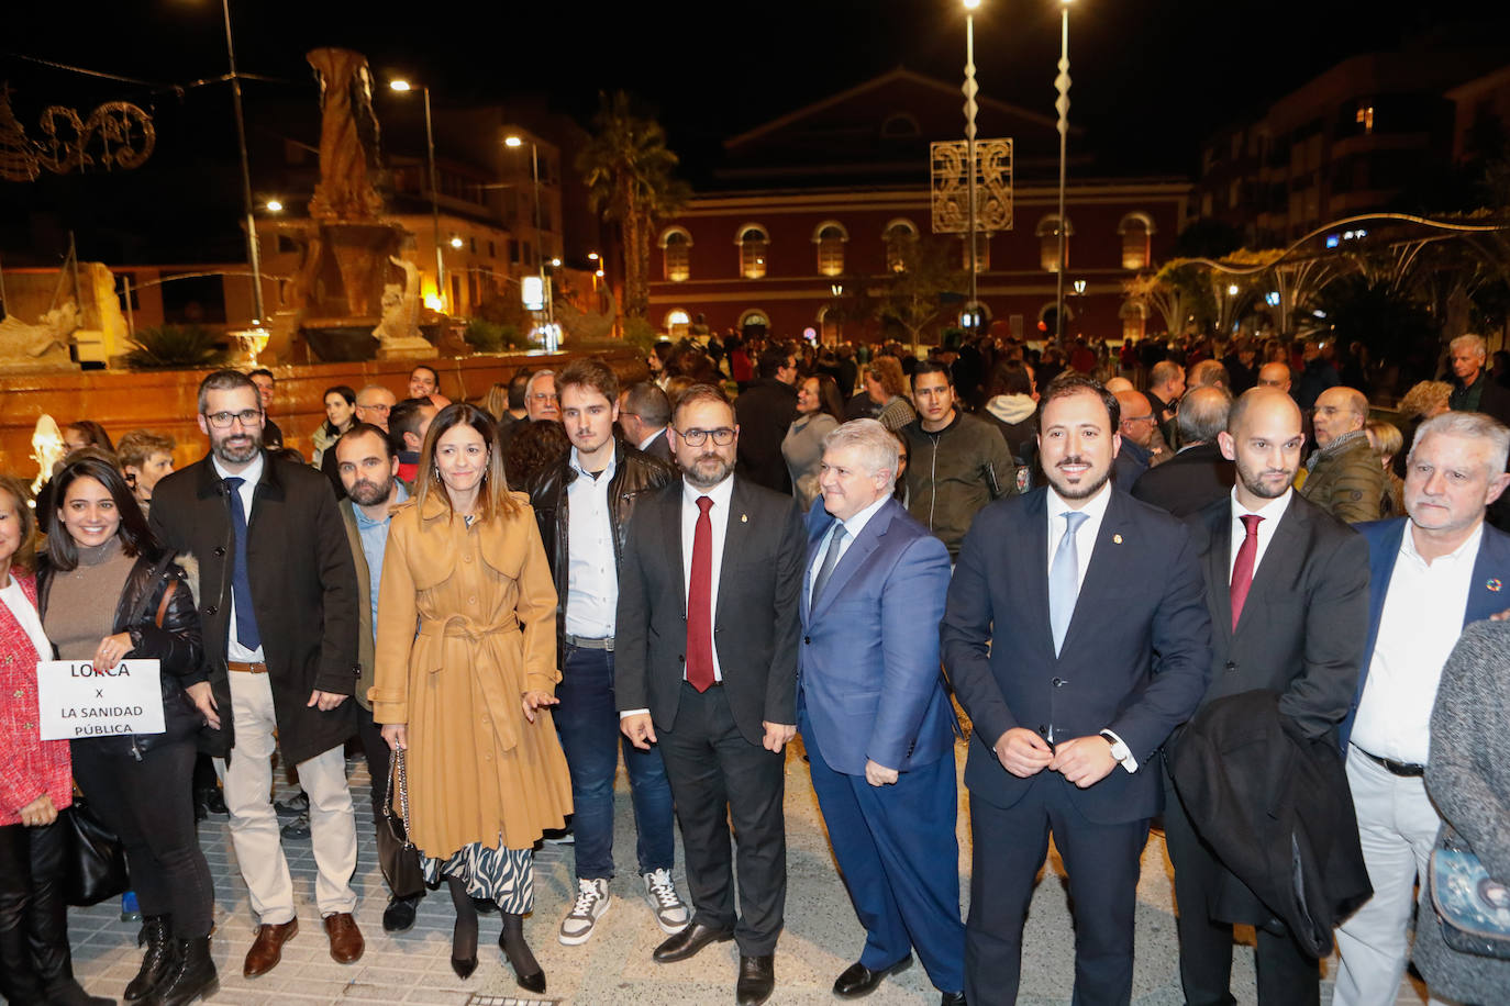
{"label": "bearded man partly hidden behind woman in camel coat", "polygon": [[[429,406],[426,406],[429,407]],[[433,413],[433,409],[430,409]],[[378,585],[382,581],[382,557],[388,546],[390,511],[397,507],[409,493],[399,480],[399,454],[393,442],[384,431],[365,422],[353,424],[341,434],[332,448],[337,459],[337,471],[341,475],[341,486],[346,489],[346,499],[340,502],[341,522],[346,525],[346,541],[352,547],[352,560],[356,564],[356,591],[359,596],[358,620],[361,633],[356,639],[358,661],[362,676],[356,685],[356,733],[362,741],[362,753],[367,756],[367,774],[371,778],[373,824],[378,825],[378,843],[387,845],[393,840],[391,833],[382,827],[384,805],[388,802],[388,742],[382,739],[382,727],[373,721],[371,701],[367,689],[373,679],[373,650],[378,624]],[[411,849],[399,855],[415,857],[412,878],[418,878],[418,854]],[[390,861],[387,851],[379,852],[378,863],[385,866]],[[424,896],[424,887],[409,887],[406,878],[394,878],[384,869],[384,879],[388,882],[388,906],[382,914],[382,928],[387,932],[405,932],[414,926],[415,905]],[[394,881],[397,879],[397,885]]]}

